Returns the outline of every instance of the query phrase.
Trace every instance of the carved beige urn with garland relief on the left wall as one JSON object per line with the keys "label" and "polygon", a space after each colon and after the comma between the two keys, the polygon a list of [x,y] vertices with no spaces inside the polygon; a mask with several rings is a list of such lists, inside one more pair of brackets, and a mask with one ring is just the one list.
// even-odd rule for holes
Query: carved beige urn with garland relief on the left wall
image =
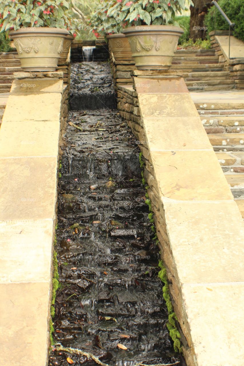
{"label": "carved beige urn with garland relief on the left wall", "polygon": [[55,71],[69,32],[52,27],[23,27],[10,31],[24,71]]}

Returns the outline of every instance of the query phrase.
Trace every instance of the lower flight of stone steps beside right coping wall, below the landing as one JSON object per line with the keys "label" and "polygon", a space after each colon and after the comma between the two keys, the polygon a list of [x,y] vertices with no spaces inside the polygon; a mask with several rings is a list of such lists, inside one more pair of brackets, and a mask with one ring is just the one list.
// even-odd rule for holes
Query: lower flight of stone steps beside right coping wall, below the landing
{"label": "lower flight of stone steps beside right coping wall, below the landing", "polygon": [[244,91],[191,96],[244,218]]}

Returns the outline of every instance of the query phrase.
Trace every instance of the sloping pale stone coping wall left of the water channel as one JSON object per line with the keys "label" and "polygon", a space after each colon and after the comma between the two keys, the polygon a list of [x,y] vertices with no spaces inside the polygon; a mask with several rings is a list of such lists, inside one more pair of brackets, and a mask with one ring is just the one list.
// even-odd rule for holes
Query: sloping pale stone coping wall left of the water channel
{"label": "sloping pale stone coping wall left of the water channel", "polygon": [[48,362],[62,72],[17,72],[0,129],[1,365]]}

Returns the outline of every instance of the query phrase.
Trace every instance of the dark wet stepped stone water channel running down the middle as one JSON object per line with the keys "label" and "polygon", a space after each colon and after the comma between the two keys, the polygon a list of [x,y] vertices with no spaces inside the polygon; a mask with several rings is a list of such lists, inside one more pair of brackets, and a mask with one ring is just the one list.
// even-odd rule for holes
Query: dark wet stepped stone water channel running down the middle
{"label": "dark wet stepped stone water channel running down the middle", "polygon": [[115,94],[109,64],[74,63],[71,69],[71,111],[58,184],[60,288],[49,366],[67,366],[67,358],[74,365],[97,365],[86,356],[58,351],[60,344],[111,366],[184,366],[166,326],[140,150],[111,109]]}

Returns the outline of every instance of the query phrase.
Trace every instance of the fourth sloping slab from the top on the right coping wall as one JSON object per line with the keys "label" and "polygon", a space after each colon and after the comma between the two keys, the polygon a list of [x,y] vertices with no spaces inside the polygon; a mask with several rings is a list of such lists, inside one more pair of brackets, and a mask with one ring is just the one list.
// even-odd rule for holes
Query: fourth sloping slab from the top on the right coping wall
{"label": "fourth sloping slab from the top on the right coping wall", "polygon": [[175,200],[233,199],[212,151],[151,151],[155,178],[162,196]]}

